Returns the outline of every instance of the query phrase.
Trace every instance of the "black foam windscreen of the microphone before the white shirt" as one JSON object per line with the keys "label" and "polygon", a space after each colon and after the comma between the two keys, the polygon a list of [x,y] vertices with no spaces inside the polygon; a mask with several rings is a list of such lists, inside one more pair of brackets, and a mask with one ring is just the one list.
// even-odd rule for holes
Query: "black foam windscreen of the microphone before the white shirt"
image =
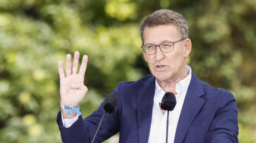
{"label": "black foam windscreen of the microphone before the white shirt", "polygon": [[160,107],[162,110],[172,111],[176,105],[175,95],[171,92],[166,92],[163,96]]}

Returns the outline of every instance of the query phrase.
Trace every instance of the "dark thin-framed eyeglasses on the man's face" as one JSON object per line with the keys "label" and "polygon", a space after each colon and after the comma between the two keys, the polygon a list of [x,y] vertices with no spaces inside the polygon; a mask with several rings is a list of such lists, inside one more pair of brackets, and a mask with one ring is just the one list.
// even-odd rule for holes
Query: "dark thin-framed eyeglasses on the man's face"
{"label": "dark thin-framed eyeglasses on the man's face", "polygon": [[[182,41],[182,40],[184,40],[184,39],[180,39],[179,41]],[[179,42],[179,41],[176,41],[176,42]],[[144,45],[144,44],[142,44],[141,48],[142,48],[142,51],[146,55],[151,55],[151,54],[156,53],[157,46],[159,46],[159,48],[162,52],[167,53],[167,52],[173,51],[174,43],[176,43],[176,42],[167,42],[167,43],[162,43],[159,45]]]}

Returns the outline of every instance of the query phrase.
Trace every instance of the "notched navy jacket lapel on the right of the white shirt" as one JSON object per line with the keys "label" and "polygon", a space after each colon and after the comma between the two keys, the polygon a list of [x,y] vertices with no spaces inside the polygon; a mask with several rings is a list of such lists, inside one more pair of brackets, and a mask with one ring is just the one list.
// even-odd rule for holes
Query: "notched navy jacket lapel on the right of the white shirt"
{"label": "notched navy jacket lapel on the right of the white shirt", "polygon": [[180,113],[174,143],[182,143],[184,140],[189,126],[204,105],[205,100],[200,98],[202,95],[204,95],[202,84],[192,72],[191,81]]}

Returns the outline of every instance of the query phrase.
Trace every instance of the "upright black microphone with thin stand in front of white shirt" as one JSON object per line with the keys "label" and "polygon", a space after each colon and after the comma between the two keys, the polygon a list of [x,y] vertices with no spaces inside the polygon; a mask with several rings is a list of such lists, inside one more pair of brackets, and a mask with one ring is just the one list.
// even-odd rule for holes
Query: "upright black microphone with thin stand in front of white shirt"
{"label": "upright black microphone with thin stand in front of white shirt", "polygon": [[166,124],[166,143],[168,143],[168,129],[169,129],[169,111],[173,111],[176,105],[175,95],[171,92],[166,92],[163,96],[162,103],[160,105],[162,110],[167,110],[167,124]]}

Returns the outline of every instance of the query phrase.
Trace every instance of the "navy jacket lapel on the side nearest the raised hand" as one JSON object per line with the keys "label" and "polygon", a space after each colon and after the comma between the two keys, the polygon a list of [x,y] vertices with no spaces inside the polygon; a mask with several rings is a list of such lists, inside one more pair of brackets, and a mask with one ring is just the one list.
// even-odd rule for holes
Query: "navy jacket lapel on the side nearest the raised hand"
{"label": "navy jacket lapel on the side nearest the raised hand", "polygon": [[140,143],[148,143],[155,93],[155,77],[150,77],[137,96],[137,117]]}

